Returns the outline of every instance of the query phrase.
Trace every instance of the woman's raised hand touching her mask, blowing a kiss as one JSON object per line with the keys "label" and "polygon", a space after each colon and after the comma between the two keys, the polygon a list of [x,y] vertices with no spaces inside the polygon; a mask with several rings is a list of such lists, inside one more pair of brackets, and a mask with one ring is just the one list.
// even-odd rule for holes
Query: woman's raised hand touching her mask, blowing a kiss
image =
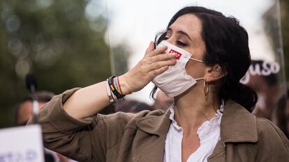
{"label": "woman's raised hand touching her mask, blowing a kiss", "polygon": [[168,70],[168,66],[177,63],[176,54],[164,54],[166,49],[168,47],[154,49],[154,42],[150,42],[144,58],[132,70],[119,76],[119,84],[124,95],[141,90],[155,76]]}

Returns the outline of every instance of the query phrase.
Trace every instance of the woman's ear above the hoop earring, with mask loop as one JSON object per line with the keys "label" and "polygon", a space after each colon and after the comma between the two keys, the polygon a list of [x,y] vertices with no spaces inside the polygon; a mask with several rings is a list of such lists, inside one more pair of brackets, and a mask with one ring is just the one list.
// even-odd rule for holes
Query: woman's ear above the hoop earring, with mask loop
{"label": "woman's ear above the hoop earring, with mask loop", "polygon": [[227,72],[224,72],[220,65],[216,64],[212,67],[206,67],[205,80],[207,82],[217,81],[223,78]]}

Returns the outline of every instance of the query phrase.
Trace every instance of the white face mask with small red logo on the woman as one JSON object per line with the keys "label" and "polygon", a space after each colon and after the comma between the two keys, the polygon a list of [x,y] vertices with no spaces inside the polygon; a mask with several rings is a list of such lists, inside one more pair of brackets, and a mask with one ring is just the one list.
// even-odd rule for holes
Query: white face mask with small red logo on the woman
{"label": "white face mask with small red logo on the woman", "polygon": [[158,76],[154,77],[152,82],[165,94],[167,94],[169,97],[175,97],[182,92],[188,90],[188,88],[191,88],[197,80],[204,79],[193,79],[192,76],[186,74],[186,63],[188,63],[188,60],[195,60],[198,62],[203,63],[202,60],[196,60],[191,58],[191,54],[189,54],[184,49],[181,49],[179,47],[176,47],[169,42],[163,40],[160,44],[158,44],[158,47],[168,46],[168,49],[165,51],[166,53],[176,53],[177,56],[177,63],[173,66],[169,66],[168,70],[165,70],[165,72],[159,74]]}

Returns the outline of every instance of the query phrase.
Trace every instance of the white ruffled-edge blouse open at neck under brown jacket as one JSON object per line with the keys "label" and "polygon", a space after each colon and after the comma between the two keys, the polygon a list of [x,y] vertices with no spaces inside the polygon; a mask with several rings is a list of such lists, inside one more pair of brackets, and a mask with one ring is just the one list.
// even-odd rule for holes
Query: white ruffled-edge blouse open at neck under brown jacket
{"label": "white ruffled-edge blouse open at neck under brown jacket", "polygon": [[[163,162],[181,162],[181,140],[183,138],[183,129],[179,127],[174,119],[174,106],[170,106],[170,129],[165,140],[165,154]],[[216,143],[220,140],[220,124],[223,115],[223,103],[216,115],[211,119],[202,123],[198,128],[198,136],[200,138],[200,147],[188,157],[187,162],[203,161],[207,162],[207,158],[213,153]]]}

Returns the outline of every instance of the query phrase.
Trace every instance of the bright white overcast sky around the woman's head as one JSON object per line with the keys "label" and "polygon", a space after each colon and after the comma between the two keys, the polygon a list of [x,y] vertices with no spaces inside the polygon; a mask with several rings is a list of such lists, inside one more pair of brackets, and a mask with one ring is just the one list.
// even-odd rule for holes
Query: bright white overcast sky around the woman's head
{"label": "bright white overcast sky around the woman's head", "polygon": [[[96,0],[92,1],[99,3]],[[236,17],[249,33],[251,57],[269,61],[275,59],[262,21],[262,15],[274,5],[274,0],[103,0],[102,5],[106,7],[105,15],[108,16],[108,43],[113,47],[125,42],[127,48],[132,51],[131,57],[128,58],[129,68],[142,59],[149,41],[154,40],[156,33],[165,29],[172,15],[190,5],[203,6],[218,10],[226,16]],[[149,83],[143,90],[129,95],[128,98],[152,104],[149,92],[153,86]]]}

